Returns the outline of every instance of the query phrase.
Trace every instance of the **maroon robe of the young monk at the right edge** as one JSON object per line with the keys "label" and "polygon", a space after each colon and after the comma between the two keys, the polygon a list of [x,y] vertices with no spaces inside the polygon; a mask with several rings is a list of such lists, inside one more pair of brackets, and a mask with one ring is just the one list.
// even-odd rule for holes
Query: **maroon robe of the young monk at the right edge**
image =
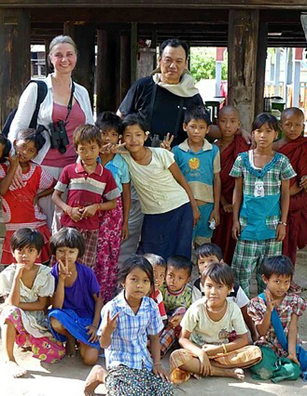
{"label": "maroon robe of the young monk at the right edge", "polygon": [[[307,138],[299,136],[279,149],[281,154],[287,156],[293,169],[297,173],[290,179],[290,187],[295,182],[299,185],[302,176],[307,176]],[[295,265],[297,247],[302,249],[307,244],[307,193],[299,191],[290,197],[290,207],[287,219],[287,233],[282,245],[282,252],[290,258]]]}

